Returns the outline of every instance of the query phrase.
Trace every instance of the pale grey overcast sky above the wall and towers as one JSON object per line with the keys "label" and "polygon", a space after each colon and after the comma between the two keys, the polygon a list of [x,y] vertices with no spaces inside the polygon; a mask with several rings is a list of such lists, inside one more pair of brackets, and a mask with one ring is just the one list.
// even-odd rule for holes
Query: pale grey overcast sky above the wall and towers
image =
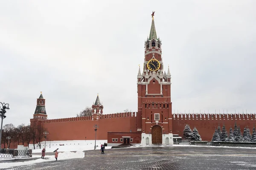
{"label": "pale grey overcast sky above the wall and towers", "polygon": [[[163,2],[163,1],[161,1]],[[154,10],[177,113],[256,112],[254,0],[2,0],[3,125],[29,124],[40,91],[48,119],[95,102],[104,114],[137,111],[138,65]]]}

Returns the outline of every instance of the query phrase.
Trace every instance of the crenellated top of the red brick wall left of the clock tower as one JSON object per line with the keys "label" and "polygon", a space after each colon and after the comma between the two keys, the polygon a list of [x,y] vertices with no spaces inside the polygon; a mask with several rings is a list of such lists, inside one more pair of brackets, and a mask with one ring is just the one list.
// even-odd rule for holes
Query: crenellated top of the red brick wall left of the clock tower
{"label": "crenellated top of the red brick wall left of the clock tower", "polygon": [[48,119],[42,120],[44,123],[58,123],[58,122],[74,122],[74,121],[87,121],[87,120],[100,120],[100,119],[122,119],[124,117],[136,117],[137,112],[127,112],[127,113],[111,113],[111,114],[102,114],[93,116],[81,116],[81,117],[71,117],[63,119]]}

